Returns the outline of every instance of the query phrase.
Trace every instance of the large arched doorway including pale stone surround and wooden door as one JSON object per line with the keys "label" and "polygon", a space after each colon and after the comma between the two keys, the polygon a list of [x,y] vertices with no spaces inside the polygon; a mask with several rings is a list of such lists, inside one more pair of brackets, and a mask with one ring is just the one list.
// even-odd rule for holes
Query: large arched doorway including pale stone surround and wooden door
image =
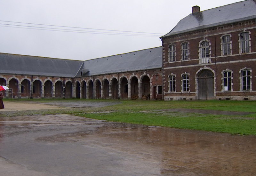
{"label": "large arched doorway including pale stone surround and wooden door", "polygon": [[211,100],[216,96],[216,74],[212,68],[200,68],[196,72],[196,97],[199,100]]}

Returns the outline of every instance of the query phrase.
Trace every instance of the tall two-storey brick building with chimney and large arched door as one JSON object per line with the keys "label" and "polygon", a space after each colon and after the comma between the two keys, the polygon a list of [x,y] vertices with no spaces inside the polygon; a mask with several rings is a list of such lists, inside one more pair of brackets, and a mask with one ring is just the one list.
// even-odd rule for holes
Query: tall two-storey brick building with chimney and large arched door
{"label": "tall two-storey brick building with chimney and large arched door", "polygon": [[256,1],[189,14],[163,44],[164,100],[256,100]]}

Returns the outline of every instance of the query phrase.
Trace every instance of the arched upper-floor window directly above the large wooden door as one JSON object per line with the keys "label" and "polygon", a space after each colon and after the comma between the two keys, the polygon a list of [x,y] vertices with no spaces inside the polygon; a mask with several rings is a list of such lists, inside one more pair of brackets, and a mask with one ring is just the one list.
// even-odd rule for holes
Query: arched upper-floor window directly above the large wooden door
{"label": "arched upper-floor window directly above the large wooden door", "polygon": [[199,64],[211,63],[211,43],[209,40],[205,39],[199,42]]}

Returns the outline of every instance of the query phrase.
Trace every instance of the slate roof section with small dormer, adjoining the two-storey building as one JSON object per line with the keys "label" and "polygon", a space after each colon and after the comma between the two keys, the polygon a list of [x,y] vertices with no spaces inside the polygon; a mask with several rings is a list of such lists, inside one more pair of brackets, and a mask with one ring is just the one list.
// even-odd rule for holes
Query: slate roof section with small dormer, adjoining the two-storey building
{"label": "slate roof section with small dormer, adjoining the two-storey building", "polygon": [[85,60],[76,76],[94,76],[162,68],[162,47]]}

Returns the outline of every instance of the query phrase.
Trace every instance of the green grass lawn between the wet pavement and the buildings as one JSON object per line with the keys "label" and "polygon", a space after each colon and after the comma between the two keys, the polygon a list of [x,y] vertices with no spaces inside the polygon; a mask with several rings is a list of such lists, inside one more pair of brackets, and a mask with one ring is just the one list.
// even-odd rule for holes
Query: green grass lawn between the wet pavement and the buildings
{"label": "green grass lawn between the wet pavement and the buildings", "polygon": [[[24,100],[7,100],[24,101]],[[147,101],[147,100],[25,100],[38,102],[54,101],[104,101],[121,102],[103,108],[68,108],[61,110],[40,110],[20,112],[22,115],[32,114],[74,114],[88,118],[144,125],[157,125],[182,129],[227,132],[231,134],[256,135],[256,101],[228,100],[180,100],[180,101]],[[246,116],[225,116],[196,113],[164,112],[160,109],[192,108],[205,110],[223,110],[239,112],[255,112]],[[19,114],[19,112],[17,112]],[[17,114],[17,115],[18,115]],[[5,114],[8,116],[8,114]],[[2,116],[2,115],[1,115]],[[12,116],[14,116],[12,114]]]}

